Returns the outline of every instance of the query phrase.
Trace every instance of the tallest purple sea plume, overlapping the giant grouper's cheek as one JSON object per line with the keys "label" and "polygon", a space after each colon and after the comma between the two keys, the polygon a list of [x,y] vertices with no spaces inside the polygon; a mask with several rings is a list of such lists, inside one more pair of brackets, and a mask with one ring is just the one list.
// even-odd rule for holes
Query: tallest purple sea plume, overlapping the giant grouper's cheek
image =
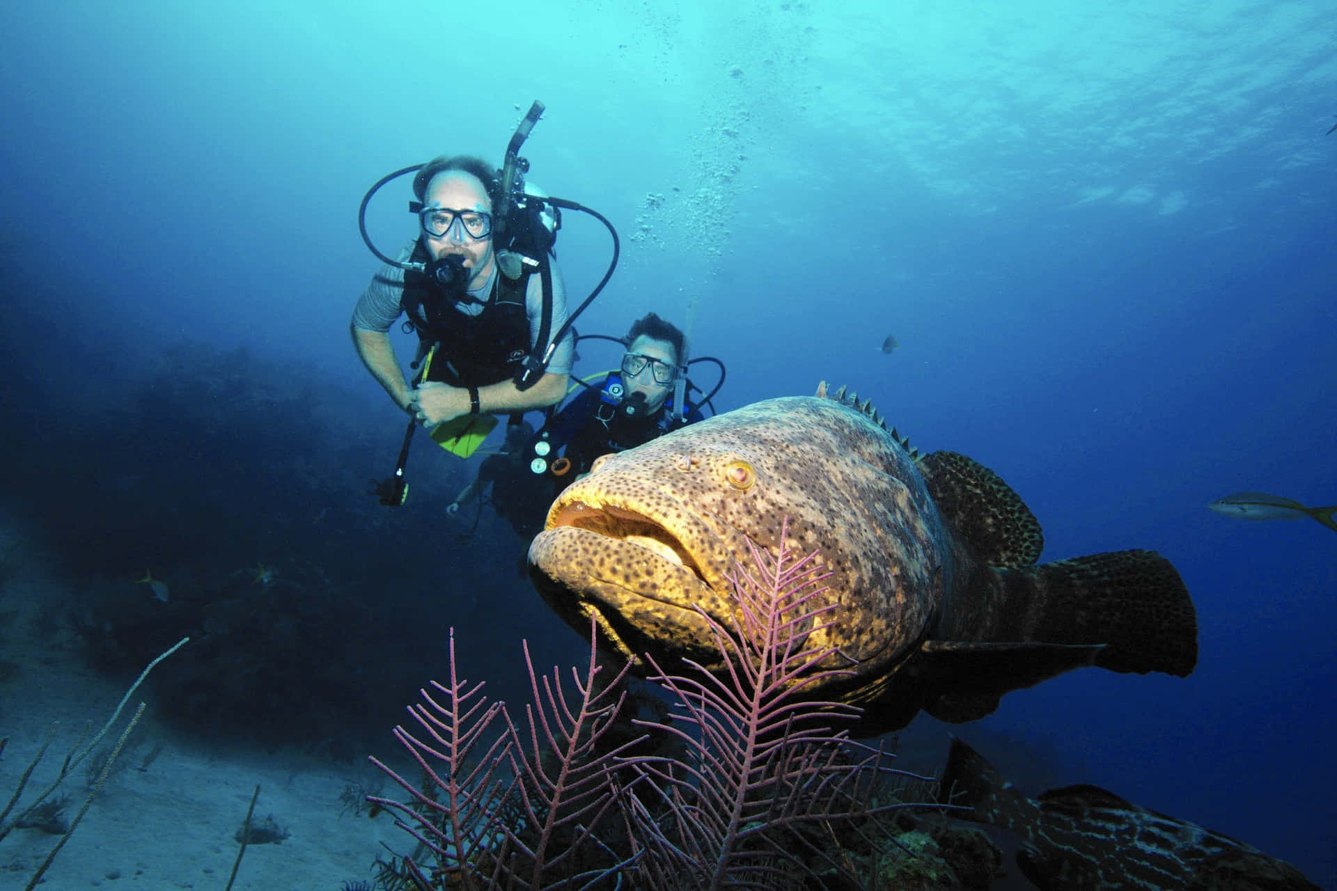
{"label": "tallest purple sea plume, overlapping the giant grouper's cheek", "polygon": [[825,590],[818,585],[826,574],[818,574],[816,553],[796,557],[789,550],[787,529],[786,521],[774,558],[749,541],[754,570],[734,566],[733,628],[698,608],[710,622],[726,671],[710,675],[683,660],[691,675],[670,675],[648,660],[651,680],[670,691],[679,712],[667,723],[636,723],[675,736],[690,759],[632,765],[662,793],[663,804],[642,804],[643,789],[626,799],[646,848],[636,864],[643,886],[798,884],[796,872],[809,874],[800,852],[842,871],[808,842],[805,828],[923,807],[866,807],[873,787],[889,773],[928,777],[894,771],[880,749],[832,729],[834,723],[857,717],[857,708],[801,695],[805,687],[844,673],[816,668],[834,649],[806,647],[810,633],[825,627],[824,614],[838,605],[812,605]]}

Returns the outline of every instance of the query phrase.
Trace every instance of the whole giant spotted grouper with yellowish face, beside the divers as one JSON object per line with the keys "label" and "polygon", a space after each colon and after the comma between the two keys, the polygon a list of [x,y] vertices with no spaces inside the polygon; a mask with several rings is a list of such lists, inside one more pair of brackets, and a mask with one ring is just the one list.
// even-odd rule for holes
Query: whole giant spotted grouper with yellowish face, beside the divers
{"label": "whole giant spotted grouper with yellowish face, beside the divers", "polygon": [[1098,665],[1189,675],[1197,617],[1170,562],[1122,550],[1036,565],[1035,517],[995,473],[952,452],[920,454],[844,387],[701,421],[595,461],[552,504],[529,546],[554,610],[623,657],[723,668],[697,608],[730,627],[731,565],[751,540],[817,552],[840,676],[805,688],[862,708],[853,732],[920,711],[969,721],[1011,691]]}

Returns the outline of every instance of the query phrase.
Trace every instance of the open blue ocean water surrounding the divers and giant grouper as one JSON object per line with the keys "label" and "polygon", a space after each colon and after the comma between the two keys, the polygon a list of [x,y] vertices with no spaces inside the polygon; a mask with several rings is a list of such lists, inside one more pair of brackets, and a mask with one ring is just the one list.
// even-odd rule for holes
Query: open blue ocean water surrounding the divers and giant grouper
{"label": "open blue ocean water surrounding the divers and giant grouper", "polygon": [[[310,645],[396,691],[354,735],[441,673],[448,625],[484,669],[513,669],[492,653],[521,633],[579,652],[504,525],[464,540],[433,510],[476,464],[418,443],[409,505],[365,496],[402,415],[348,337],[376,269],[366,187],[441,152],[500,162],[541,99],[531,179],[622,235],[582,331],[695,301],[721,410],[849,383],[1007,480],[1047,560],[1154,548],[1182,573],[1191,677],[1074,672],[963,736],[1027,740],[1055,785],[1332,887],[1337,537],[1206,504],[1337,504],[1337,9],[885,5],[7,7],[7,506],[87,616],[143,597],[146,565],[180,590],[257,564],[293,593],[334,577],[348,624],[316,610]],[[382,248],[412,235],[394,188],[369,216]],[[568,214],[559,259],[583,295],[608,236]],[[606,367],[592,353],[578,370]],[[124,671],[147,645],[99,656]]]}

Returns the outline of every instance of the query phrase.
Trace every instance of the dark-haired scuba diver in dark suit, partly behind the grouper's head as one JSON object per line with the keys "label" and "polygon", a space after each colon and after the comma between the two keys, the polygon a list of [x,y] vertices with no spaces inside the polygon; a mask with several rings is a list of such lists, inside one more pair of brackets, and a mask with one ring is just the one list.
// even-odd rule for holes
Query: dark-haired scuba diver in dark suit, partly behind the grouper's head
{"label": "dark-haired scuba diver in dark suit, partly behind the grouper's head", "polygon": [[[612,338],[610,338],[612,339]],[[590,472],[595,458],[623,452],[655,439],[670,430],[701,421],[695,406],[681,415],[673,411],[674,385],[682,374],[686,338],[677,326],[654,313],[636,319],[627,337],[622,367],[571,399],[536,438],[540,454],[562,458],[536,461],[555,477],[556,492]],[[686,399],[683,399],[686,401]]]}

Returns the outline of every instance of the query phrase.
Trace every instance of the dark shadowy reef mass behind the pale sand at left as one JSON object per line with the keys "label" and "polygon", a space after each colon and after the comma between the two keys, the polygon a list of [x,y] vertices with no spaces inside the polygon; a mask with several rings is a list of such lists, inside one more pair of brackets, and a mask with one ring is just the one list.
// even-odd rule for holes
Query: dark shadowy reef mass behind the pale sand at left
{"label": "dark shadowy reef mass behind the pale sand at left", "polygon": [[[425,608],[440,602],[440,568],[414,560],[402,534],[439,520],[463,470],[416,454],[414,496],[388,512],[362,486],[393,460],[394,442],[322,407],[357,397],[317,398],[314,378],[246,350],[163,349],[99,378],[108,393],[80,425],[115,435],[99,441],[95,461],[87,429],[35,405],[40,423],[19,431],[25,472],[9,493],[25,537],[0,538],[0,585],[15,593],[27,541],[40,541],[59,565],[59,592],[44,596],[49,625],[32,637],[72,629],[99,672],[132,677],[190,636],[174,671],[152,681],[162,719],[210,739],[352,760],[396,720],[384,692],[408,696],[424,660],[444,661],[437,643],[380,647],[400,633],[394,616],[418,614],[427,641],[468,618]],[[483,588],[479,564],[459,561],[452,578]],[[134,584],[146,569],[170,589],[166,600]],[[0,635],[17,635],[5,628],[9,606],[0,604]]]}

